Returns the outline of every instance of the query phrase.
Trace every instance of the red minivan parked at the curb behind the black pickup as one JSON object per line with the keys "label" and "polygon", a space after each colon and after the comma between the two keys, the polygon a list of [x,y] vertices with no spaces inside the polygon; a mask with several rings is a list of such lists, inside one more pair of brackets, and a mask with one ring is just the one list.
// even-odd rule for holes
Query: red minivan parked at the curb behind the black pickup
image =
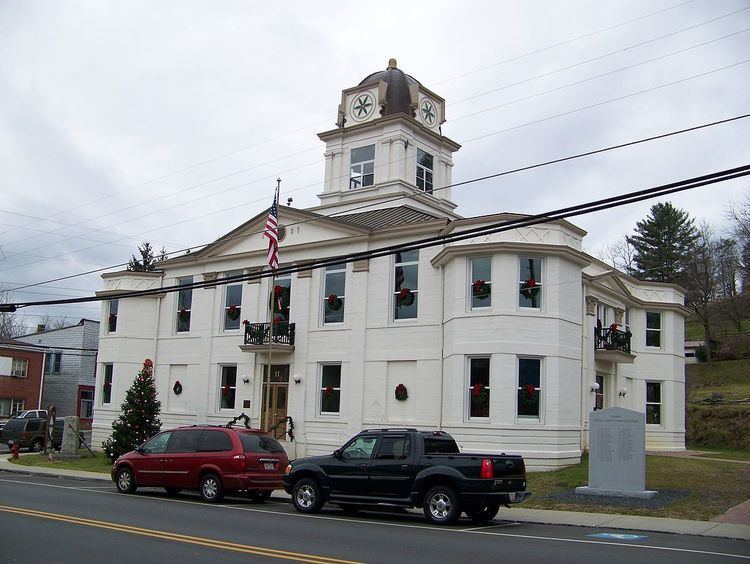
{"label": "red minivan parked at the curb behind the black pickup", "polygon": [[162,487],[175,495],[200,492],[208,502],[226,492],[246,492],[262,503],[283,488],[289,458],[284,447],[259,429],[195,425],[162,431],[112,465],[117,490]]}

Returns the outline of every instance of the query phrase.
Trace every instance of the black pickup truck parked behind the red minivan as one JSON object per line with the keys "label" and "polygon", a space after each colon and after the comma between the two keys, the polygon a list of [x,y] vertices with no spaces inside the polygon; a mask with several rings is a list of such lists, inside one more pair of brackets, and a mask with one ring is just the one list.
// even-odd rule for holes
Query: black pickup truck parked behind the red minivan
{"label": "black pickup truck parked behind the red minivan", "polygon": [[501,505],[531,495],[520,456],[460,453],[449,434],[416,429],[362,431],[333,454],[295,460],[284,489],[301,513],[317,513],[327,501],[349,512],[421,506],[440,525],[462,511],[472,521],[489,521]]}

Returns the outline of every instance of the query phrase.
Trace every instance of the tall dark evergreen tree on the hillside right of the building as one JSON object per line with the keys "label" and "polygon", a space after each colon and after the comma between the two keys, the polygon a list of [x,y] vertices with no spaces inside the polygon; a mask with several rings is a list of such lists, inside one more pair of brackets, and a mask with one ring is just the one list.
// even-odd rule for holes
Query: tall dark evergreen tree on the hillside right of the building
{"label": "tall dark evergreen tree on the hillside right of the building", "polygon": [[679,282],[698,238],[687,212],[669,202],[654,204],[646,219],[636,223],[627,241],[634,250],[635,275],[642,280]]}

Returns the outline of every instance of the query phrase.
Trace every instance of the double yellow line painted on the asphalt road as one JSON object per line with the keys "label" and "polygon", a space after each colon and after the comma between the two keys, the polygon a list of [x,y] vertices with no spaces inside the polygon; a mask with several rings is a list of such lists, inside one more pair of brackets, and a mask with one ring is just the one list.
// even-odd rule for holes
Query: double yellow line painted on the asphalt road
{"label": "double yellow line painted on the asphalt road", "polygon": [[205,546],[208,548],[220,548],[223,550],[231,550],[234,552],[241,552],[245,554],[256,554],[260,556],[267,556],[269,558],[282,558],[286,560],[295,560],[297,562],[312,562],[315,564],[356,564],[352,560],[339,560],[336,558],[328,558],[326,556],[316,556],[314,554],[305,554],[302,552],[290,552],[287,550],[276,550],[273,548],[264,548],[261,546],[251,546],[246,544],[238,544],[233,542],[220,541],[215,539],[208,539],[203,537],[194,537],[189,535],[181,535],[177,533],[168,533],[166,531],[152,531],[150,529],[143,529],[141,527],[133,527],[131,525],[123,525],[118,523],[110,523],[107,521],[96,521],[94,519],[86,519],[83,517],[74,517],[72,515],[60,515],[57,513],[48,513],[46,511],[36,511],[34,509],[23,509],[19,507],[11,507],[8,505],[0,505],[0,511],[5,513],[15,513],[17,515],[25,515],[27,517],[38,517],[41,519],[50,519],[52,521],[62,521],[66,523],[74,523],[77,525],[86,525],[88,527],[96,527],[99,529],[109,529],[112,531],[119,531],[123,533],[130,533],[134,535],[141,535],[146,537],[153,537],[163,540],[171,540],[176,542],[183,542],[187,544],[195,544],[199,546]]}

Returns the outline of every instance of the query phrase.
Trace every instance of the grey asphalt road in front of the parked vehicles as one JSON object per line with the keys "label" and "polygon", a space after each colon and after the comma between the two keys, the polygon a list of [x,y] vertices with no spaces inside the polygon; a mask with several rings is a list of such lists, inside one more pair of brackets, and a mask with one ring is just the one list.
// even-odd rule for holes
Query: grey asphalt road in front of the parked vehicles
{"label": "grey asphalt road in front of the parked vehicles", "polygon": [[[334,507],[300,515],[288,503],[228,498],[202,503],[186,493],[118,494],[102,482],[0,474],[2,562],[738,562],[750,542],[495,521],[429,526],[416,512]],[[623,535],[623,531],[611,531]],[[12,539],[11,542],[8,539]]]}

